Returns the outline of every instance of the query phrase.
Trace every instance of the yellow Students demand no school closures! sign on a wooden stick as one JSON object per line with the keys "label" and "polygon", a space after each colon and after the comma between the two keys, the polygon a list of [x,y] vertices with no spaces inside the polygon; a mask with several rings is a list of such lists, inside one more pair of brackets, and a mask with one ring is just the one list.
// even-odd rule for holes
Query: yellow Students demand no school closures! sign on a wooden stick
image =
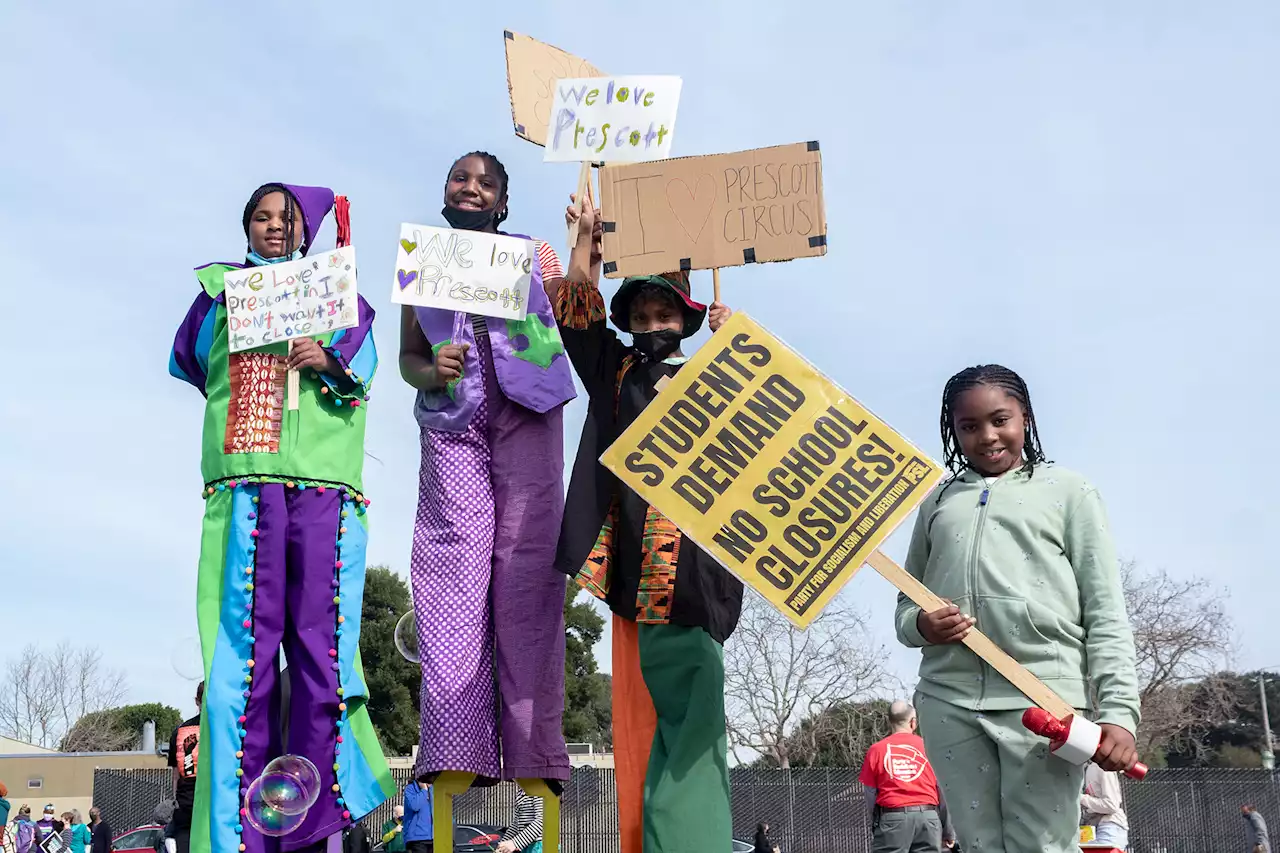
{"label": "yellow Students demand no school closures! sign on a wooden stick", "polygon": [[806,628],[941,466],[745,314],[600,462]]}

